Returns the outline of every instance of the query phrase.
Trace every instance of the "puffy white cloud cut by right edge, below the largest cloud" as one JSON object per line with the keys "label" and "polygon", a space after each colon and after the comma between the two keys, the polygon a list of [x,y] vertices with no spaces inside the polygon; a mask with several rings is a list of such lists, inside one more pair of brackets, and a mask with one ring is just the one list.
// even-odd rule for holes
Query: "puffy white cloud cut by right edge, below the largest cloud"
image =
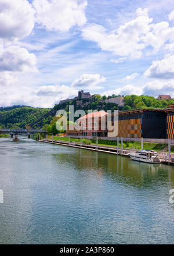
{"label": "puffy white cloud cut by right edge, below the largest cloud", "polygon": [[153,61],[144,76],[157,79],[174,79],[174,55],[166,55],[161,61]]}

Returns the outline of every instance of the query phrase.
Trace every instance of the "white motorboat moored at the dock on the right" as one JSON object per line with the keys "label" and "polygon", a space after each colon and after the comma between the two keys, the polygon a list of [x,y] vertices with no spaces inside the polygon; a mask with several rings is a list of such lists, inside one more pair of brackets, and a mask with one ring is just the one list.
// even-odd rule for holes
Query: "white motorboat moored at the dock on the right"
{"label": "white motorboat moored at the dock on the right", "polygon": [[130,153],[129,157],[132,160],[144,163],[161,163],[161,159],[154,150],[137,150],[134,153]]}

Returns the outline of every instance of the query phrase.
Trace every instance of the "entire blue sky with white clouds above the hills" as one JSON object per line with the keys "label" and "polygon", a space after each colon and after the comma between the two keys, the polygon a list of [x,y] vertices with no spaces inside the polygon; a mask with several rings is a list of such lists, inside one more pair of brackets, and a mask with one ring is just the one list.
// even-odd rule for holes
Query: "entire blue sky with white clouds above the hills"
{"label": "entire blue sky with white clouds above the hills", "polygon": [[0,106],[174,97],[172,0],[0,0]]}

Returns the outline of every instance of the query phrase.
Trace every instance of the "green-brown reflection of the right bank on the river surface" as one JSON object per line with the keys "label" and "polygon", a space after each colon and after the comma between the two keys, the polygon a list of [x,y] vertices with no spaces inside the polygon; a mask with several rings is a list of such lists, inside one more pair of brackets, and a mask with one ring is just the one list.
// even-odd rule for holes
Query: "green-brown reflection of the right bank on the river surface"
{"label": "green-brown reflection of the right bank on the river surface", "polygon": [[[55,155],[57,161],[70,163],[77,170],[92,170],[100,178],[109,176],[117,182],[118,177],[122,182],[135,187],[149,187],[151,185],[170,182],[174,184],[174,166],[164,164],[150,164],[132,161],[129,158],[115,156],[111,154],[81,150],[80,157],[77,154]],[[95,170],[95,171],[94,171]]]}

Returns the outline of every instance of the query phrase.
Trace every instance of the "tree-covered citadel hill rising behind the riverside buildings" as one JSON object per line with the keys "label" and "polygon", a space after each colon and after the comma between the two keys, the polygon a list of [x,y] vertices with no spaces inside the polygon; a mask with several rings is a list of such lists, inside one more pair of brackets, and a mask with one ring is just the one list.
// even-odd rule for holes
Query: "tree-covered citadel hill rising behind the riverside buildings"
{"label": "tree-covered citadel hill rising behind the riverside buildings", "polygon": [[[118,95],[120,96],[120,95]],[[105,103],[102,102],[101,99],[107,99],[107,98],[114,98],[115,95],[112,96],[103,96],[97,95],[93,97],[92,100],[90,99],[81,99],[77,101],[70,101],[63,104],[57,104],[54,106],[54,108],[49,112],[46,113],[43,117],[39,118],[35,122],[31,123],[32,127],[35,128],[41,128],[44,126],[46,129],[46,126],[48,126],[47,120],[53,119],[53,117],[56,115],[56,112],[60,109],[64,109],[69,111],[69,105],[74,105],[74,111],[78,109],[83,109],[86,113],[89,109],[92,110],[111,110],[114,111],[116,109],[119,109],[119,111],[129,110],[129,109],[142,109],[142,108],[166,108],[169,104],[174,104],[174,99],[161,99],[160,101],[154,97],[151,96],[137,96],[137,95],[127,95],[124,97],[125,106],[119,107],[117,104],[114,103]]]}

